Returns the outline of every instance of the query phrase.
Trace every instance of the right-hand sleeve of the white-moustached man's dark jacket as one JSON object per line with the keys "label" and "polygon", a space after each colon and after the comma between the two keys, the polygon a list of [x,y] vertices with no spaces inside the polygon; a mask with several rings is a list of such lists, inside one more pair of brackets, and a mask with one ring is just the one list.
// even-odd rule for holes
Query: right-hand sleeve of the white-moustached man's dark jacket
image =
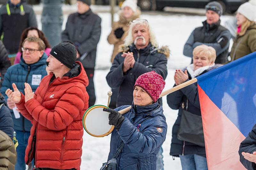
{"label": "right-hand sleeve of the white-moustached man's dark jacket", "polygon": [[156,64],[153,67],[146,67],[142,63],[139,63],[138,61],[135,61],[133,68],[131,69],[131,73],[139,77],[141,74],[155,71],[157,74],[160,74],[164,80],[167,76],[167,58],[166,55],[163,53],[160,53],[159,60],[156,62]]}

